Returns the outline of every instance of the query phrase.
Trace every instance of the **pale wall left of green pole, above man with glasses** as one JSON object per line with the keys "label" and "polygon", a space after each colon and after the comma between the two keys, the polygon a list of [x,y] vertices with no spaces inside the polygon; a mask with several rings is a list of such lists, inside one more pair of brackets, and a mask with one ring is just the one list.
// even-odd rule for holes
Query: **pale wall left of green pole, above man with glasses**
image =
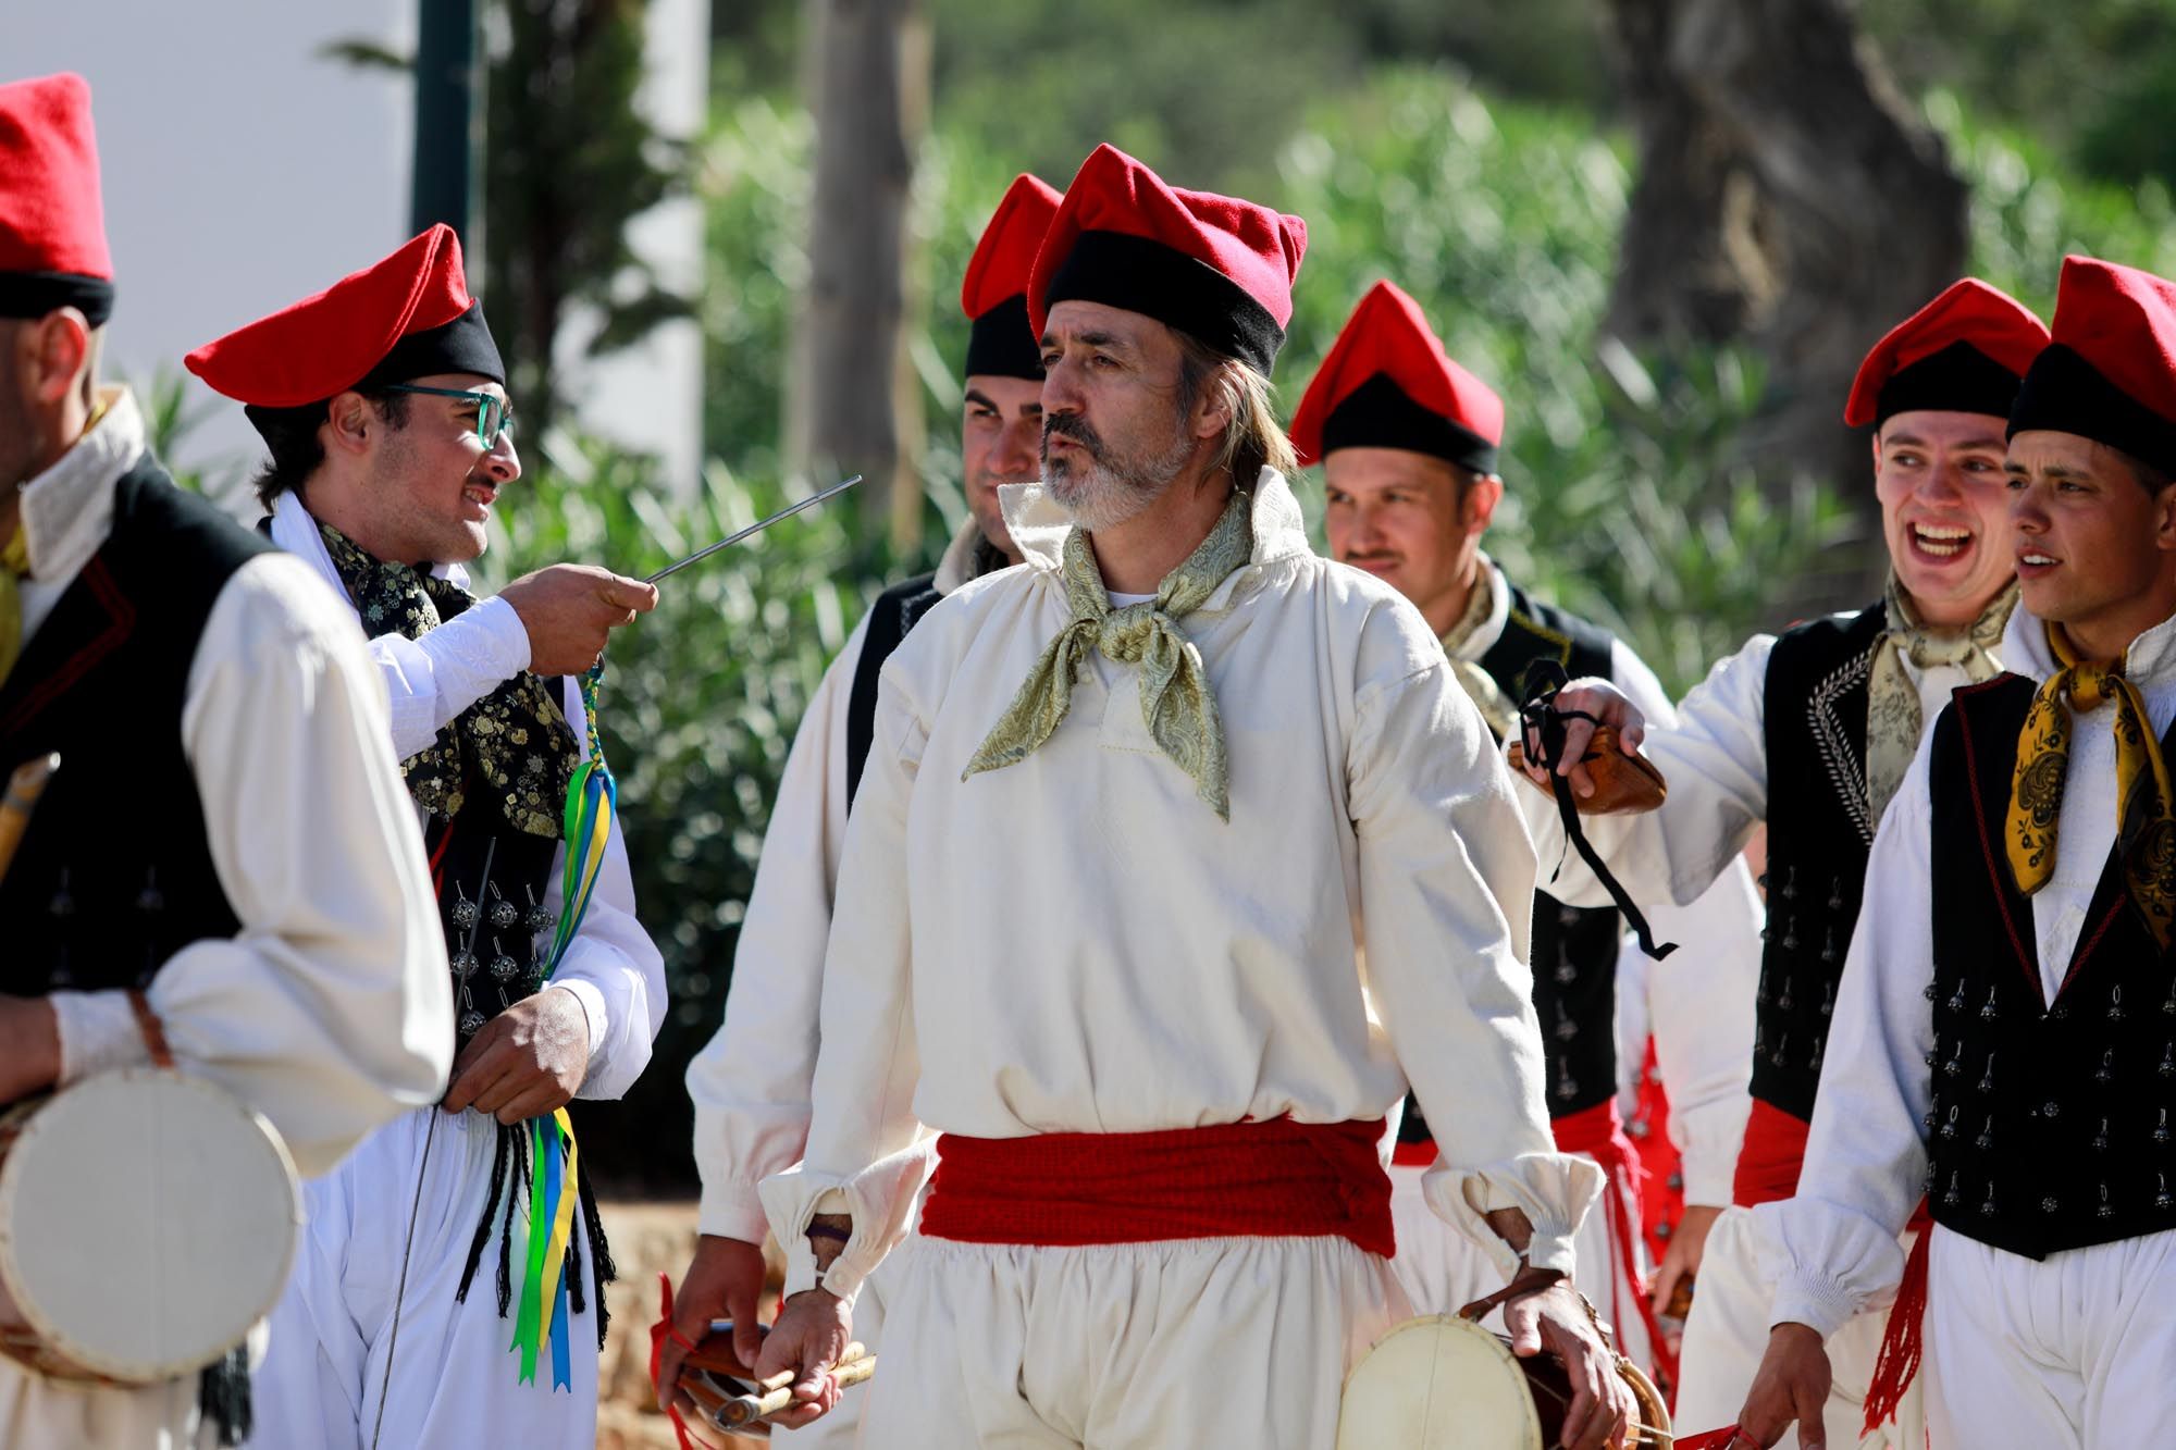
{"label": "pale wall left of green pole, above man with glasses", "polygon": [[[109,374],[181,372],[200,342],[318,292],[407,239],[405,76],[318,57],[413,50],[413,0],[0,0],[0,78],[91,83],[118,300]],[[259,455],[242,407],[189,379],[207,420],[176,464]]]}

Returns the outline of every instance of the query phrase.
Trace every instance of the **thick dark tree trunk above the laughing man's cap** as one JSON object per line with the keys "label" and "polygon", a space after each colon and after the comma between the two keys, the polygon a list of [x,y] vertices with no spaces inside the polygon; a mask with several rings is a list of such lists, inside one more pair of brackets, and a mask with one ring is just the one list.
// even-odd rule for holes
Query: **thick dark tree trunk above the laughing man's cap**
{"label": "thick dark tree trunk above the laughing man's cap", "polygon": [[[1741,446],[1871,516],[1843,427],[1874,342],[1956,281],[1965,183],[1860,46],[1843,0],[1612,0],[1639,135],[1608,331],[1747,344],[1767,392]],[[1860,579],[1869,570],[1860,570]]]}

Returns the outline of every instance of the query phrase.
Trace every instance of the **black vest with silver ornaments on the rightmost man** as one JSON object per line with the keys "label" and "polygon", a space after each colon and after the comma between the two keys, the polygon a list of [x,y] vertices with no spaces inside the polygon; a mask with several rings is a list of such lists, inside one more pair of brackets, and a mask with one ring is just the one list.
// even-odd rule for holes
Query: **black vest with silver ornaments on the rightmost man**
{"label": "black vest with silver ornaments on the rightmost man", "polygon": [[2045,999],[2032,904],[2002,849],[2032,688],[2019,675],[1963,688],[1934,725],[1924,1126],[1934,1221],[2045,1258],[2176,1228],[2176,960],[2111,847],[2063,988]]}

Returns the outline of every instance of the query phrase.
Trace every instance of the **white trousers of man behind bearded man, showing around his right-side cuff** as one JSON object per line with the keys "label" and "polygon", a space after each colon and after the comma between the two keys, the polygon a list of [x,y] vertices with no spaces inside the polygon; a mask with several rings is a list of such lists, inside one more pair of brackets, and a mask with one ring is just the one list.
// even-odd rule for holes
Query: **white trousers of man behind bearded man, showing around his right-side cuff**
{"label": "white trousers of man behind bearded man, showing around his right-side cuff", "polygon": [[[1586,1154],[1578,1154],[1586,1158]],[[1397,1228],[1397,1258],[1390,1271],[1397,1276],[1406,1300],[1417,1315],[1456,1315],[1462,1304],[1495,1293],[1504,1287],[1504,1269],[1462,1232],[1445,1224],[1421,1197],[1423,1167],[1390,1165],[1390,1224]],[[1608,1189],[1604,1189],[1608,1191]],[[1639,1226],[1639,1204],[1625,1200],[1634,1230]],[[1599,1200],[1571,1239],[1575,1261],[1573,1282],[1595,1311],[1608,1319],[1617,1332],[1617,1350],[1641,1369],[1654,1365],[1654,1345],[1647,1341],[1647,1322],[1639,1313],[1632,1287],[1619,1261],[1617,1234],[1610,1232],[1610,1215]],[[1634,1245],[1641,1278],[1649,1263],[1643,1245]],[[1491,1328],[1504,1328],[1497,1311],[1486,1319]]]}

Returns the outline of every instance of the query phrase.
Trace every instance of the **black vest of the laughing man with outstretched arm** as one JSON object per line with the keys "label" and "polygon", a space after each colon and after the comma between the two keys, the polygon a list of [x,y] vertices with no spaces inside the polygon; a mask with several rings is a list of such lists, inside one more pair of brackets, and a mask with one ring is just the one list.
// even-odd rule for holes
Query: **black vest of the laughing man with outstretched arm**
{"label": "black vest of the laughing man with outstretched arm", "polygon": [[1813,1121],[1874,845],[1867,675],[1882,627],[1871,605],[1786,629],[1763,688],[1769,867],[1752,1095],[1802,1121]]}

